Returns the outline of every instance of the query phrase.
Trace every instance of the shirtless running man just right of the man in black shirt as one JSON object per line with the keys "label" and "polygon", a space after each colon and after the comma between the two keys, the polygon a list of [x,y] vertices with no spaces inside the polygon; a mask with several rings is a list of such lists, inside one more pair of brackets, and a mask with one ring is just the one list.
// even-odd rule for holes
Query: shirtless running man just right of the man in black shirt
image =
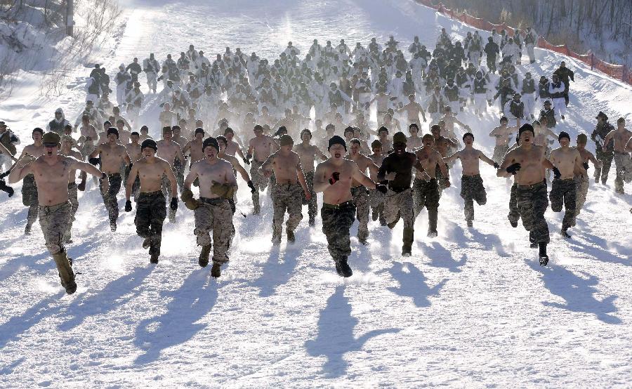
{"label": "shirtless running man just right of the man in black shirt", "polygon": [[[433,133],[437,130],[435,124],[430,128]],[[417,174],[414,183],[414,218],[423,207],[428,210],[428,237],[437,237],[437,218],[439,216],[440,186],[450,187],[447,163],[442,154],[435,147],[435,137],[427,133],[421,138],[423,147],[415,152],[419,164],[423,168],[422,174]],[[438,171],[437,171],[438,169]],[[439,181],[442,181],[440,184]]]}

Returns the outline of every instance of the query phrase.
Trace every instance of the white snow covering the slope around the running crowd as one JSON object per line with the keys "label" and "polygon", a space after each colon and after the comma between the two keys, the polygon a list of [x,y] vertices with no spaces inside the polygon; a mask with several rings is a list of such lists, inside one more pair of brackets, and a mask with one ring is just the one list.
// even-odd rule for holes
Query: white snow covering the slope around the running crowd
{"label": "white snow covering the slope around the running crowd", "polygon": [[[441,27],[456,39],[471,30],[412,0],[122,5],[120,34],[96,58],[110,74],[135,56],[153,52],[163,60],[189,44],[209,58],[230,46],[273,59],[290,40],[304,53],[315,38],[367,44],[393,34],[405,49],[419,35],[431,49]],[[536,55],[538,62],[520,71],[551,74],[562,59],[575,71],[570,112],[555,131],[569,131],[574,144],[577,133],[591,133],[600,110],[612,123],[626,117],[629,126],[631,86],[555,53]],[[13,96],[0,102],[0,118],[22,146],[56,107],[74,121],[88,73],[79,67],[57,98],[37,94],[39,75],[22,74]],[[155,99],[148,95],[141,116],[154,136]],[[491,156],[495,110],[482,120],[469,112],[459,119]],[[632,386],[632,197],[614,194],[614,165],[607,185],[591,180],[571,240],[558,235],[562,213],[546,212],[546,268],[522,225],[509,225],[510,183],[490,166],[481,167],[487,205],[475,206],[474,228],[466,228],[460,169],[452,169],[453,185],[440,201],[439,237],[426,237],[425,211],[416,220],[412,257],[400,256],[401,223],[391,231],[369,222],[368,246],[357,242],[356,223],[349,279],[336,275],[320,218],[309,228],[306,208],[296,244],[272,249],[270,199],[262,195],[262,215],[251,216],[241,179],[237,207],[247,217],[235,214],[237,236],[222,277],[211,279],[210,269],[197,265],[192,212],[182,203],[178,223],[165,223],[159,264],[150,265],[133,213],[122,211],[122,191],[112,233],[88,180],[68,246],[82,273],[72,296],[60,287],[39,227],[23,235],[27,209],[15,185],[13,198],[0,194],[0,386]]]}

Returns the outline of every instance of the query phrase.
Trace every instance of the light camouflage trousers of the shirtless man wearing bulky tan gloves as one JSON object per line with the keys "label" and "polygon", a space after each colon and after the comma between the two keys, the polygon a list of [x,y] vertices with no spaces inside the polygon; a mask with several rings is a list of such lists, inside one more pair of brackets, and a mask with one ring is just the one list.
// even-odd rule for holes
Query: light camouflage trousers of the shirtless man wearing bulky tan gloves
{"label": "light camouflage trousers of the shirtless man wearing bulky tan gloves", "polygon": [[[195,216],[195,230],[193,233],[198,246],[213,246],[213,262],[228,262],[228,246],[232,235],[232,210],[228,199],[218,197],[215,199],[199,198],[199,206],[193,214]],[[213,232],[211,241],[210,232]]]}

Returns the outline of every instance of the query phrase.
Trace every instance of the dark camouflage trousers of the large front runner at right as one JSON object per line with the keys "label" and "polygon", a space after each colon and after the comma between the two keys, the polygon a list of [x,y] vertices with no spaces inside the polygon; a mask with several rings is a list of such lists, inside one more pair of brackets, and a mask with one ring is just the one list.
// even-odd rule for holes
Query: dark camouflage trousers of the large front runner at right
{"label": "dark camouflage trousers of the large front runner at right", "polygon": [[529,231],[529,241],[548,243],[548,224],[544,212],[548,207],[546,181],[534,185],[518,185],[515,192],[522,225]]}

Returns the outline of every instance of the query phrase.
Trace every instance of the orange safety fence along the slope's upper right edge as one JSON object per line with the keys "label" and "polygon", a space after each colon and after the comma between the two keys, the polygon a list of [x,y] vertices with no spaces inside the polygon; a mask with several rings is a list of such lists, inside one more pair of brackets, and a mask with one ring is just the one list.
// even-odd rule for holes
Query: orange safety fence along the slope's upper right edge
{"label": "orange safety fence along the slope's upper right edge", "polygon": [[[483,20],[482,18],[475,18],[474,16],[468,15],[467,13],[454,12],[454,10],[447,8],[441,3],[435,5],[433,4],[431,0],[415,0],[415,1],[423,6],[433,8],[437,10],[437,12],[442,13],[446,16],[449,16],[449,18],[459,20],[460,22],[463,22],[466,25],[470,25],[478,29],[482,29],[485,31],[492,31],[492,29],[496,29],[496,31],[501,31],[504,29],[505,32],[510,37],[513,37],[513,34],[515,34],[515,29],[513,27],[506,25],[505,23],[501,25],[494,25],[494,23],[492,22],[488,22],[487,20]],[[524,34],[525,34],[524,32],[521,32],[521,35],[524,36]],[[586,54],[575,53],[570,48],[568,48],[568,46],[553,45],[549,43],[548,41],[546,41],[546,39],[544,39],[543,37],[539,37],[538,42],[537,42],[537,47],[544,48],[546,50],[555,51],[556,53],[560,53],[560,54],[575,58],[577,60],[580,60],[581,62],[586,63],[586,65],[590,65],[592,70],[599,70],[600,72],[607,74],[609,77],[612,77],[614,79],[619,79],[621,81],[624,81],[626,84],[632,85],[632,72],[629,71],[626,65],[614,65],[612,63],[605,62],[605,60],[602,60],[601,58],[597,57],[591,51],[588,51],[588,53]]]}

